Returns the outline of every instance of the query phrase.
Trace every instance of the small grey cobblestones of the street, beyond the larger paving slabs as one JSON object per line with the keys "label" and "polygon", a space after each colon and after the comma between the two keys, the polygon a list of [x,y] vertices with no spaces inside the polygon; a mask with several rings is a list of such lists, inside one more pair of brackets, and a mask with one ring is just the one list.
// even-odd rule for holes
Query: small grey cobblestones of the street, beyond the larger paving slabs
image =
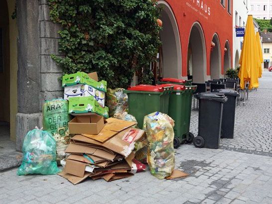
{"label": "small grey cobblestones of the street, beyond the larger paving slabs", "polygon": [[[221,148],[272,156],[272,72],[264,72],[257,91],[236,106],[234,139],[221,139]],[[192,110],[191,131],[198,132],[198,111]]]}

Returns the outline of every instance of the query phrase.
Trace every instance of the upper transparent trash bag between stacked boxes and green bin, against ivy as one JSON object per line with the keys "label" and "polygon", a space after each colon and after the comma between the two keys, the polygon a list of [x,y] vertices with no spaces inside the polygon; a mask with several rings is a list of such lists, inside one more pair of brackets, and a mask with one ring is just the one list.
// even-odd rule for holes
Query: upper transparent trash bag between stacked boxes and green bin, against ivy
{"label": "upper transparent trash bag between stacked boxes and green bin, against ivy", "polygon": [[123,93],[125,89],[107,89],[107,105],[109,107],[110,117],[116,113],[128,112],[128,95]]}

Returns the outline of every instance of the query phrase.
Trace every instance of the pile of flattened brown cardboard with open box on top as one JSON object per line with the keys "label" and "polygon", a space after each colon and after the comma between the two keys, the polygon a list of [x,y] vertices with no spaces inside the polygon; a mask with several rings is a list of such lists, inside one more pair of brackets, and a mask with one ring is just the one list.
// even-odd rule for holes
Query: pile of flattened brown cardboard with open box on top
{"label": "pile of flattened brown cardboard with open box on top", "polygon": [[104,120],[96,114],[76,116],[68,123],[76,135],[65,150],[70,155],[61,161],[64,169],[59,175],[78,184],[88,177],[109,182],[145,170],[145,165],[134,159],[135,142],[145,137],[143,130],[132,127],[135,124],[116,118]]}

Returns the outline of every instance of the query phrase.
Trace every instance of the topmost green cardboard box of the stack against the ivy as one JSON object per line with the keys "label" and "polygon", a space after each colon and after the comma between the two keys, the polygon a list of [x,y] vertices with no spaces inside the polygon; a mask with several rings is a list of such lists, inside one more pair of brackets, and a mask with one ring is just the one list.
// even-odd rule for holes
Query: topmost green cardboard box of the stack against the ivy
{"label": "topmost green cardboard box of the stack against the ivy", "polygon": [[96,79],[98,79],[96,72],[90,74],[84,72],[77,72],[69,75],[66,74],[62,77],[62,87],[84,84],[94,87],[100,91],[107,92],[107,82],[104,80],[98,82]]}

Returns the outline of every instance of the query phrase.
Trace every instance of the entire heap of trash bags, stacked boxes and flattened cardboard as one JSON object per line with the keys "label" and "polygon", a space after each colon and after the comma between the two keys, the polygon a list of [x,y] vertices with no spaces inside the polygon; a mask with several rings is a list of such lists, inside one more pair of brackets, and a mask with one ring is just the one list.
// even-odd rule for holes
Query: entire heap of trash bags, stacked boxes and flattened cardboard
{"label": "entire heap of trash bags, stacked boxes and flattened cardboard", "polygon": [[144,171],[146,163],[159,179],[185,175],[174,170],[174,121],[168,115],[150,113],[138,129],[136,117],[127,112],[128,95],[123,89],[107,92],[97,73],[64,75],[62,86],[64,99],[43,105],[45,131],[34,129],[24,138],[18,175],[58,174],[73,184],[87,178],[110,182]]}

